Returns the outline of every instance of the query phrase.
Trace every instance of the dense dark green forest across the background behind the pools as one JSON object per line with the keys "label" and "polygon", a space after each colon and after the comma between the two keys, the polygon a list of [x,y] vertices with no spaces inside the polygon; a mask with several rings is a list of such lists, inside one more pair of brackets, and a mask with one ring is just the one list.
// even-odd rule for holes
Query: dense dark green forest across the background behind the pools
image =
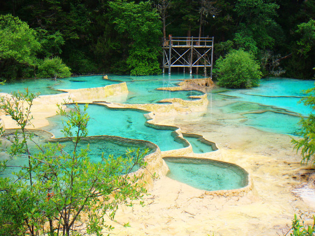
{"label": "dense dark green forest across the background behind the pools", "polygon": [[[214,36],[215,60],[311,79],[315,0],[1,0],[0,78],[158,74],[161,37]],[[18,32],[18,33],[17,33]]]}

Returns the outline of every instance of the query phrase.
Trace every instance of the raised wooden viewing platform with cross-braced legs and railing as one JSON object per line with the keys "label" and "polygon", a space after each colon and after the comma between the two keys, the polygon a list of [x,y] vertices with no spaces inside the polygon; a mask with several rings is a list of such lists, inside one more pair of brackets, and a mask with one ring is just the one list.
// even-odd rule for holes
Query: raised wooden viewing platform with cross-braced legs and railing
{"label": "raised wooden viewing platform with cross-braced legs and railing", "polygon": [[213,63],[213,41],[214,37],[172,37],[163,38],[163,73],[168,68],[171,74],[172,67],[192,68],[203,67],[205,70],[210,67],[212,78]]}

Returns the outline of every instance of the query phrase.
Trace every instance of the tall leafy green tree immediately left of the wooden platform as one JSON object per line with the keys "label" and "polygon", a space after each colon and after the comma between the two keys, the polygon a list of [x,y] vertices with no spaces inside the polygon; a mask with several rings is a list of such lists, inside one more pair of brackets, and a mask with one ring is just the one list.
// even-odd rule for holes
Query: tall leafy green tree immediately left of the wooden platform
{"label": "tall leafy green tree immediately left of the wooden platform", "polygon": [[160,73],[158,56],[160,52],[161,24],[158,12],[149,1],[138,4],[126,0],[109,3],[115,29],[129,39],[126,64],[131,75]]}

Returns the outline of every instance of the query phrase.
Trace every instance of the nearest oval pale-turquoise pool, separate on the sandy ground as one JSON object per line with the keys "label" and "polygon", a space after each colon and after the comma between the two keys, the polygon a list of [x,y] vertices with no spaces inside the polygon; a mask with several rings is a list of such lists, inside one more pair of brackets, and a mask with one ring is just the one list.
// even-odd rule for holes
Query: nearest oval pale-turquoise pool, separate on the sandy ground
{"label": "nearest oval pale-turquoise pool, separate on the sandy ground", "polygon": [[207,159],[163,158],[168,165],[167,177],[192,187],[214,191],[245,187],[247,173],[240,167]]}

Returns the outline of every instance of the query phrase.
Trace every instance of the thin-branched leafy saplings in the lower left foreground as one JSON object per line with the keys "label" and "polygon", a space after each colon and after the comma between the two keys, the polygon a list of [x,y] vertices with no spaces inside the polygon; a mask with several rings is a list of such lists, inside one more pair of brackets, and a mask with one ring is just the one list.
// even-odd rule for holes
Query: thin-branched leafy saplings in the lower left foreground
{"label": "thin-branched leafy saplings in the lower left foreground", "polygon": [[[131,171],[143,166],[145,152],[128,151],[126,157],[101,155],[97,163],[89,158],[89,148],[78,144],[88,135],[88,106],[82,110],[73,104],[69,112],[59,106],[59,114],[67,120],[63,133],[72,141],[71,151],[64,151],[58,142],[38,146],[35,152],[28,143],[34,141],[24,124],[30,124],[30,110],[35,95],[18,93],[1,98],[1,109],[20,125],[18,138],[2,128],[2,137],[13,141],[10,150],[25,155],[29,163],[17,168],[13,177],[0,177],[0,234],[5,236],[70,236],[102,235],[104,215],[113,219],[119,204],[141,198],[145,189],[136,182]],[[27,101],[23,106],[24,101]],[[23,128],[24,127],[24,128]],[[25,137],[20,139],[19,137]],[[14,154],[14,152],[11,152]],[[21,157],[20,157],[21,158]],[[7,161],[0,163],[5,171]],[[83,217],[84,216],[84,217]],[[78,223],[81,224],[78,224]]]}

